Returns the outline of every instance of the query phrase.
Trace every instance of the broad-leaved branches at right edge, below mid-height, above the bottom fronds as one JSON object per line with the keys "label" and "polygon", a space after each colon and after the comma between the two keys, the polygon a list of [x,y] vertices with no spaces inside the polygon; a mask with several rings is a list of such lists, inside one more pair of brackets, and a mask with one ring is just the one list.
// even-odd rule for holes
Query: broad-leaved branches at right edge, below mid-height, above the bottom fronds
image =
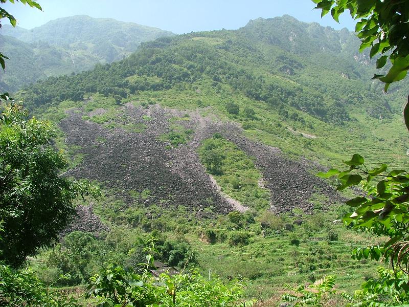
{"label": "broad-leaved branches at right edge, below mid-height, above the bottom fronds", "polygon": [[320,175],[336,175],[338,190],[362,183],[367,195],[357,196],[346,202],[354,208],[354,212],[347,213],[343,218],[344,222],[358,230],[390,237],[383,245],[355,250],[353,256],[357,259],[364,257],[375,260],[382,257],[385,261],[389,260],[393,267],[397,265],[409,274],[409,174],[402,169],[388,171],[386,164],[368,169],[364,162],[364,159],[355,153],[350,161],[344,161],[350,166],[348,169],[330,169]]}

